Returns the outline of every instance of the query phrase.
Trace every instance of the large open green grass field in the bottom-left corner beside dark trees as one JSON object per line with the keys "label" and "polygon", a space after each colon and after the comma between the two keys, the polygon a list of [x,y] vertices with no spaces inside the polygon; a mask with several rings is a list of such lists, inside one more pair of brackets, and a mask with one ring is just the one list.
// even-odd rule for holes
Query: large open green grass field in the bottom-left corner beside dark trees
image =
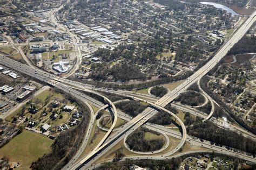
{"label": "large open green grass field in the bottom-left corner beside dark trees", "polygon": [[19,162],[19,169],[30,169],[33,161],[51,151],[53,140],[30,131],[23,131],[0,148],[0,155],[9,158],[9,162]]}

